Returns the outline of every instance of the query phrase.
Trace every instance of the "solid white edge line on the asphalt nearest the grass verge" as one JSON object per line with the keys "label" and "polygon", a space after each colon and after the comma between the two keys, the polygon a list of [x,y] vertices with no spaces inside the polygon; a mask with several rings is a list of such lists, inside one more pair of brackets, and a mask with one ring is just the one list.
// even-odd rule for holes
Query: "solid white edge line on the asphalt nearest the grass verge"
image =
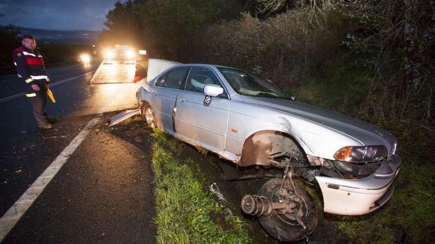
{"label": "solid white edge line on the asphalt nearest the grass verge", "polygon": [[[120,94],[121,90],[118,91]],[[115,98],[118,97],[118,94]],[[116,100],[116,99],[115,99]],[[59,172],[60,168],[66,163],[68,158],[79,147],[82,141],[86,138],[92,128],[100,121],[101,115],[112,105],[114,100],[101,107],[97,116],[91,119],[83,128],[83,130],[74,138],[70,144],[63,149],[63,151],[57,156],[54,161],[48,166],[47,169],[41,174],[35,182],[24,192],[24,194],[10,207],[9,210],[0,218],[0,243],[9,233],[9,231],[15,226],[18,220],[24,215],[27,209],[35,202],[38,196],[43,192],[45,186],[51,181],[54,175]]]}

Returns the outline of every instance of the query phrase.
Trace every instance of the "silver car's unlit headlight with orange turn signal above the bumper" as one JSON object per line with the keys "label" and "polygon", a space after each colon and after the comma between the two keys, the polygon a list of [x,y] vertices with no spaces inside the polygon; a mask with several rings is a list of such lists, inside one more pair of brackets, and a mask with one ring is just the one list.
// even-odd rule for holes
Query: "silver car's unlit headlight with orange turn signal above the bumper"
{"label": "silver car's unlit headlight with orange turn signal above the bumper", "polygon": [[352,163],[377,162],[387,156],[385,146],[345,146],[334,154],[336,160]]}

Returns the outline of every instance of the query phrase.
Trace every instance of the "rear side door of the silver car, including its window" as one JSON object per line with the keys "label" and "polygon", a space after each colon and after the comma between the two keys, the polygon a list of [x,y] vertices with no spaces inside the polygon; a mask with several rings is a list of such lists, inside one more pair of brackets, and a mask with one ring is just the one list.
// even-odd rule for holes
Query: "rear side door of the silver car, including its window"
{"label": "rear side door of the silver car, including its window", "polygon": [[163,130],[174,131],[173,109],[175,101],[184,87],[187,71],[190,67],[178,67],[160,76],[152,91],[152,102],[157,124]]}

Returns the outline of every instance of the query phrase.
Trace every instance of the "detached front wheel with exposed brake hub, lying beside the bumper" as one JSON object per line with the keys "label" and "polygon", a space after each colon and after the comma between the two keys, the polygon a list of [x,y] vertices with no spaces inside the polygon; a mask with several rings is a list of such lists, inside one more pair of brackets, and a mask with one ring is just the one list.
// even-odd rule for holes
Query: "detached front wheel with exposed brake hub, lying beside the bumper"
{"label": "detached front wheel with exposed brake hub, lying beside the bumper", "polygon": [[[282,186],[282,188],[281,188]],[[259,222],[269,235],[281,242],[298,242],[311,235],[317,226],[317,212],[311,197],[304,187],[294,182],[295,189],[289,180],[282,181],[281,178],[274,178],[261,186],[258,194],[267,198],[270,203],[280,203],[285,199],[295,199],[299,196],[302,201],[293,202],[294,208],[289,211],[286,209],[272,209],[270,214],[259,217]],[[285,191],[283,191],[285,189]],[[295,194],[295,191],[297,194]],[[283,192],[285,194],[283,194]],[[300,221],[305,228],[298,222],[299,212]]]}

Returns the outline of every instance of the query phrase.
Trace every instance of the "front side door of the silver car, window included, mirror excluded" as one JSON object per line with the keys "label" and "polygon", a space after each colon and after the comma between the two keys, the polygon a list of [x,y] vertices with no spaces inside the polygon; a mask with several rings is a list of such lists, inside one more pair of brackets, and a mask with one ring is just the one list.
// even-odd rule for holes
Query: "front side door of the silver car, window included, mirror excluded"
{"label": "front side door of the silver car, window included, mirror excluded", "polygon": [[215,72],[205,67],[192,67],[184,91],[177,98],[175,130],[188,138],[223,150],[230,99],[227,93],[213,97],[210,104],[204,103],[206,85],[223,85]]}

